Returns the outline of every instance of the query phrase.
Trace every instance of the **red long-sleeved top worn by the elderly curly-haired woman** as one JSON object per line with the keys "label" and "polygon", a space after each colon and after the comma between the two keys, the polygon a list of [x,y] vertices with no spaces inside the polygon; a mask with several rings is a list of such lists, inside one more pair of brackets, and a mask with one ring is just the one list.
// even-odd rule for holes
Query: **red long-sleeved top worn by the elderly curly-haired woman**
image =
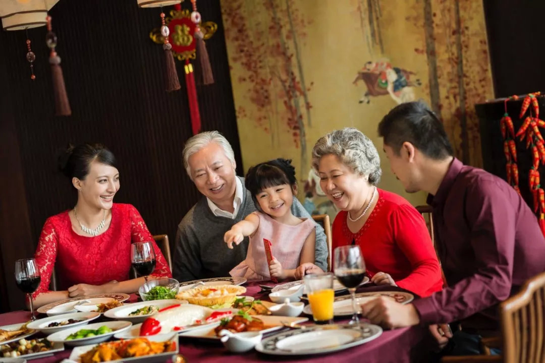
{"label": "red long-sleeved top worn by the elderly curly-haired woman", "polygon": [[421,214],[401,196],[377,188],[378,202],[364,226],[352,233],[347,212],[335,217],[333,249],[355,240],[364,255],[367,274],[392,276],[397,286],[421,297],[441,290],[441,270]]}

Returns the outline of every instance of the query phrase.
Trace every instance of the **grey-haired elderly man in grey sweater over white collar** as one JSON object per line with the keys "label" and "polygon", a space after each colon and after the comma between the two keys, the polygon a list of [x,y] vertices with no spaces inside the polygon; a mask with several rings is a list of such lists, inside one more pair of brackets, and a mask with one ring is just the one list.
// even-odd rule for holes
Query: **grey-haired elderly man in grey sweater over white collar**
{"label": "grey-haired elderly man in grey sweater over white collar", "polygon": [[[244,179],[235,175],[234,152],[229,141],[217,131],[201,132],[187,140],[184,166],[203,194],[178,225],[173,276],[189,281],[228,276],[246,258],[247,237],[238,248],[229,249],[223,235],[248,214],[256,211]],[[294,198],[292,213],[310,215]],[[324,230],[316,225],[316,264],[327,267],[328,248]]]}

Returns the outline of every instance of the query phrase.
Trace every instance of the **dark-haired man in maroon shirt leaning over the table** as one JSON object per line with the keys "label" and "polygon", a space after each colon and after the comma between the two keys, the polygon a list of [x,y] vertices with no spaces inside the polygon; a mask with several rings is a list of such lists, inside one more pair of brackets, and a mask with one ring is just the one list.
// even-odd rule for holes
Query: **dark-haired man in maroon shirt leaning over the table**
{"label": "dark-haired man in maroon shirt leaning over the table", "polygon": [[429,193],[449,287],[408,305],[372,300],[362,313],[390,328],[429,324],[440,346],[452,337],[445,323],[460,323],[464,336],[456,342],[455,333],[455,354],[477,354],[480,335],[499,327],[498,303],[545,271],[545,238],[537,218],[504,180],[452,156],[443,125],[424,103],[393,108],[378,131],[405,190]]}

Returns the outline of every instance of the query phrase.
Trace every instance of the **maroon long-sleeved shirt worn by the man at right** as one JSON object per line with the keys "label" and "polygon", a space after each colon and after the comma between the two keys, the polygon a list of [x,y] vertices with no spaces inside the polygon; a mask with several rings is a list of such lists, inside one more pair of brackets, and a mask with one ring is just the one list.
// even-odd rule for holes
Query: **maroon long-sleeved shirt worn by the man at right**
{"label": "maroon long-sleeved shirt worn by the man at right", "polygon": [[421,322],[498,329],[498,303],[545,271],[536,216],[504,180],[456,158],[428,204],[449,287],[414,302]]}

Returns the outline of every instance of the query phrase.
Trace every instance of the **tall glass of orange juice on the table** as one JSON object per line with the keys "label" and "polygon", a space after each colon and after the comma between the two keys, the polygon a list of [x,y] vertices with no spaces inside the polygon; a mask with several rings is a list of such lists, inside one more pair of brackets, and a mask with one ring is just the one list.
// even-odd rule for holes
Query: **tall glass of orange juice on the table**
{"label": "tall glass of orange juice on the table", "polygon": [[333,319],[334,275],[310,274],[304,278],[308,302],[316,324],[330,324]]}

